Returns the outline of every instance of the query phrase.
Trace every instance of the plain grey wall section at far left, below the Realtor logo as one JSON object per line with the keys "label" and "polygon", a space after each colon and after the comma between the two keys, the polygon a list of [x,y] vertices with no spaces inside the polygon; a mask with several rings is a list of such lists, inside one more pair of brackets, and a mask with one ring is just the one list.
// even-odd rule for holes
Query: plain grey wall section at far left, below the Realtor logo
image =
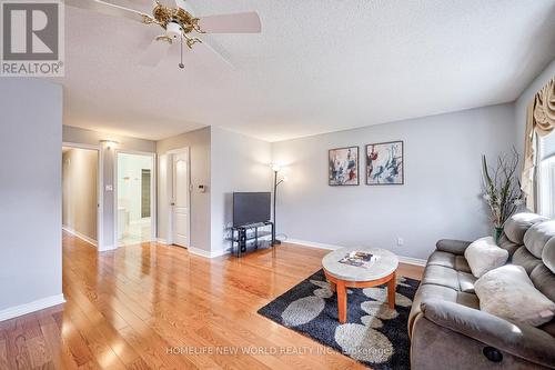
{"label": "plain grey wall section at far left, below the Realtor logo", "polygon": [[1,311],[62,297],[62,88],[2,78],[0,112]]}

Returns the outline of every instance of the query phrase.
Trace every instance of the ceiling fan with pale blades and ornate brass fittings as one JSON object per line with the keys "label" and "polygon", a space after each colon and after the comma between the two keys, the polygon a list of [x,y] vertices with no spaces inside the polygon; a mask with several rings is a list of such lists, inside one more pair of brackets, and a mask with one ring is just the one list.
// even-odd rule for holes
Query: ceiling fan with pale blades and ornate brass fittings
{"label": "ceiling fan with pale blades and ornate brass fittings", "polygon": [[64,0],[64,2],[71,7],[161,27],[163,33],[152,40],[141,58],[140,63],[149,67],[157,66],[175,42],[181,44],[180,68],[184,68],[183,44],[189,49],[193,49],[195,44],[203,44],[221,60],[230,64],[221,53],[206,43],[206,40],[201,39],[201,34],[260,33],[262,29],[260,17],[255,11],[196,17],[194,9],[185,0],[175,0],[175,8],[164,6],[160,0],[154,0],[152,16],[103,0]]}

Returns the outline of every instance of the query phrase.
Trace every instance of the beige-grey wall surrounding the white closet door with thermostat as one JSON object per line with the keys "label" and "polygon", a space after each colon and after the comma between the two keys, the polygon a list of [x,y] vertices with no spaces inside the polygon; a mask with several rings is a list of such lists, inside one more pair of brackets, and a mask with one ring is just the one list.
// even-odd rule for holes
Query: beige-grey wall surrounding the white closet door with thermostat
{"label": "beige-grey wall surrounding the white closet door with thermostat", "polygon": [[[165,159],[170,150],[188,147],[191,162],[191,247],[210,251],[210,128],[190,131],[157,142],[160,159]],[[160,163],[159,163],[160,164]],[[159,166],[162,171],[163,166]],[[165,196],[165,172],[160,172],[158,186],[158,237],[168,236],[169,204]],[[206,192],[199,191],[199,184],[208,187]]]}

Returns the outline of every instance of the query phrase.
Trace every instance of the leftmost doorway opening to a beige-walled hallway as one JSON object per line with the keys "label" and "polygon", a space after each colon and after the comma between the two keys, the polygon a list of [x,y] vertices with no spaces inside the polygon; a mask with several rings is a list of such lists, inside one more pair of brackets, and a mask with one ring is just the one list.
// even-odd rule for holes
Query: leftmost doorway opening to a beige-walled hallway
{"label": "leftmost doorway opening to a beige-walled hallway", "polygon": [[100,149],[62,147],[62,228],[87,243],[101,246]]}

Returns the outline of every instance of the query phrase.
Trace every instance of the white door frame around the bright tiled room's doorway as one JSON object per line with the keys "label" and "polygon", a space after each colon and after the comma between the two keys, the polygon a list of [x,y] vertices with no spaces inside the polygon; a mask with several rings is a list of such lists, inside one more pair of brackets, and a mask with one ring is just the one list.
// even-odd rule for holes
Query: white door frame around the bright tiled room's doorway
{"label": "white door frame around the bright tiled room's doorway", "polygon": [[152,158],[152,174],[150,177],[150,242],[157,240],[157,153],[150,151],[138,151],[128,149],[114,149],[113,151],[113,244],[120,248],[118,242],[118,154],[135,154]]}

